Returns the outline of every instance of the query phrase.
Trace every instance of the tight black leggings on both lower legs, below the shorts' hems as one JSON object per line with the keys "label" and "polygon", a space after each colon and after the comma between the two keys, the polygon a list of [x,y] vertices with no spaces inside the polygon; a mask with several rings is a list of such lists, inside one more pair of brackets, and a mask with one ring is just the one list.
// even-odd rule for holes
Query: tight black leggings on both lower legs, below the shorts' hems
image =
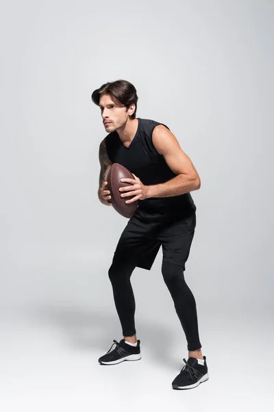
{"label": "tight black leggings on both lower legs, below the shorts' hems", "polygon": [[[135,299],[130,277],[136,266],[130,262],[114,260],[108,271],[112,283],[114,302],[121,321],[123,336],[136,334]],[[182,324],[188,350],[201,348],[199,341],[196,301],[184,279],[184,268],[171,262],[162,262],[162,275],[173,298],[175,310]]]}

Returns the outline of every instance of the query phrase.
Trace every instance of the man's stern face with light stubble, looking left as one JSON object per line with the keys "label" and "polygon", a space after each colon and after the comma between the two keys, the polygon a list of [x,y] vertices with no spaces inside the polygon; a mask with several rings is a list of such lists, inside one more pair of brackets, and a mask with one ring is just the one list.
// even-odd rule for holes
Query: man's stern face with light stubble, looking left
{"label": "man's stern face with light stubble, looking left", "polygon": [[110,133],[124,126],[132,114],[132,110],[123,106],[120,102],[114,99],[111,95],[101,95],[99,101],[101,116],[105,130]]}

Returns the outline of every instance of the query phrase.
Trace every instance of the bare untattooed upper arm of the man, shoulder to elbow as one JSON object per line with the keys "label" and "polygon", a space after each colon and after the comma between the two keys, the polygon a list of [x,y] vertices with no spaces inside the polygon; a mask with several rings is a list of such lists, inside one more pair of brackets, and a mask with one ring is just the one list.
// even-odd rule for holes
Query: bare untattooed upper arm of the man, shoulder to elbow
{"label": "bare untattooed upper arm of the man, shoulder to elbow", "polygon": [[157,126],[153,130],[152,139],[155,149],[164,156],[167,165],[175,174],[198,176],[190,157],[182,150],[169,129],[161,125]]}

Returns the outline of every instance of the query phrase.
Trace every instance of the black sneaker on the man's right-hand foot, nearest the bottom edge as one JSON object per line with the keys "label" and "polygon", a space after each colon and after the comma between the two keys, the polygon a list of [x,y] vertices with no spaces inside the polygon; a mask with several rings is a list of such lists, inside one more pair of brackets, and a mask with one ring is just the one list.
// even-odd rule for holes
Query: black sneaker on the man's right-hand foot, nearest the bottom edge
{"label": "black sneaker on the man's right-hand foot, nearest the bottom edge", "polygon": [[202,382],[208,380],[208,365],[206,364],[206,356],[203,356],[204,365],[200,365],[196,358],[184,358],[184,365],[182,371],[172,382],[173,389],[192,389],[200,385]]}

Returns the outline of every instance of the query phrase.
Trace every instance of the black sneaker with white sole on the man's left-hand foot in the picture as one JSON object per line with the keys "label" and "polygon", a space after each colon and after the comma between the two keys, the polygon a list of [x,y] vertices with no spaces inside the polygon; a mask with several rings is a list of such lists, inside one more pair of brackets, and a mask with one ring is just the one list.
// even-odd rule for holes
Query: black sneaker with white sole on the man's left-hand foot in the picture
{"label": "black sneaker with white sole on the man's left-hand foot in the picture", "polygon": [[[116,347],[112,350],[114,343],[116,343]],[[112,343],[110,350],[98,359],[101,365],[115,365],[123,361],[138,361],[138,359],[142,358],[139,340],[137,341],[137,346],[127,345],[125,339],[121,339],[120,342],[114,339],[114,343]]]}

